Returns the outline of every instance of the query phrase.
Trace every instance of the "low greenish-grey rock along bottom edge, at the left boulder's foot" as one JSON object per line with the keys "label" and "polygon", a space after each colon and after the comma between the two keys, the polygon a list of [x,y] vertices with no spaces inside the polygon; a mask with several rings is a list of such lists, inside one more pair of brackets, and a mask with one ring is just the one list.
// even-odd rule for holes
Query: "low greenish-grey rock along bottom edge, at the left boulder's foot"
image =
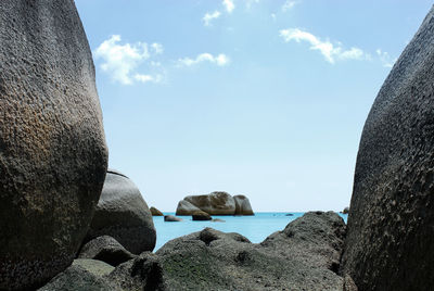
{"label": "low greenish-grey rock along bottom edge, at the left boulder's foot", "polygon": [[122,291],[104,278],[113,270],[114,267],[101,261],[75,260],[71,267],[38,291]]}

